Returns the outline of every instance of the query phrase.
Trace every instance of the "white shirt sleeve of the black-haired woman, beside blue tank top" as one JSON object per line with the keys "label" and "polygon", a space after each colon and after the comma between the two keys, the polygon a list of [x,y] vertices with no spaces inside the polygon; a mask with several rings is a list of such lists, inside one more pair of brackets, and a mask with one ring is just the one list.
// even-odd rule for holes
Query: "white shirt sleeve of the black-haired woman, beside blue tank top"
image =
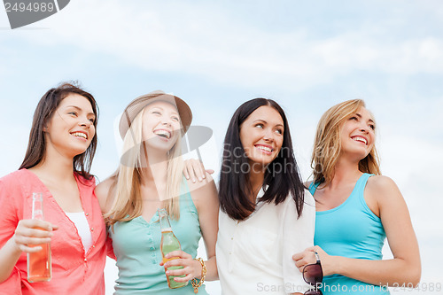
{"label": "white shirt sleeve of the black-haired woman, beside blue tank top", "polygon": [[314,245],[315,200],[309,191],[305,190],[305,204],[299,219],[293,199],[288,198],[285,202],[288,204],[284,206],[282,216],[284,289],[288,293],[304,293],[309,285],[295,266],[292,255]]}

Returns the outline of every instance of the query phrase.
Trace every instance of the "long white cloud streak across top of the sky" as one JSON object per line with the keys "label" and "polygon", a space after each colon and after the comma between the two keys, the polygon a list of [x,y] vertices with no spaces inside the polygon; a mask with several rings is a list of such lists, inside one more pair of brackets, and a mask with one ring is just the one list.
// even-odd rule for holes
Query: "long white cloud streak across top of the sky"
{"label": "long white cloud streak across top of the sky", "polygon": [[[413,10],[414,8],[410,8]],[[331,82],[355,70],[443,74],[443,41],[432,35],[388,42],[380,20],[315,38],[315,27],[285,33],[231,20],[227,7],[116,0],[75,1],[44,19],[27,37],[110,54],[145,70],[182,72],[232,85],[292,91]]]}

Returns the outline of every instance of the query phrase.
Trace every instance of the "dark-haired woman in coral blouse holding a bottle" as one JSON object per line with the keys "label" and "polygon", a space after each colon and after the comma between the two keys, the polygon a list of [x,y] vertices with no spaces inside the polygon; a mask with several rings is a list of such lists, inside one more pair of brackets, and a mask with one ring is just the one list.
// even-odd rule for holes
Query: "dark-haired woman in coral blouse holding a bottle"
{"label": "dark-haired woman in coral blouse holding a bottle", "polygon": [[[25,159],[0,179],[0,294],[105,293],[105,223],[89,174],[96,127],[94,97],[74,85],[37,105]],[[31,219],[33,192],[43,194],[45,221]],[[27,253],[49,242],[51,281],[29,283]]]}

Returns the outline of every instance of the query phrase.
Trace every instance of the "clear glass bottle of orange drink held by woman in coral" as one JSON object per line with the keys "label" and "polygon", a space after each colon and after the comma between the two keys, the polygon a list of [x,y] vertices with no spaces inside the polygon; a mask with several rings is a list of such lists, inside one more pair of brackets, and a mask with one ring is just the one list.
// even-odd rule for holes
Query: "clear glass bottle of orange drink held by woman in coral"
{"label": "clear glass bottle of orange drink held by woman in coral", "polygon": [[[32,194],[32,218],[40,221],[44,220],[43,194],[41,192],[34,192]],[[52,275],[51,244],[33,246],[40,246],[42,250],[27,253],[27,281],[29,283],[50,281]]]}

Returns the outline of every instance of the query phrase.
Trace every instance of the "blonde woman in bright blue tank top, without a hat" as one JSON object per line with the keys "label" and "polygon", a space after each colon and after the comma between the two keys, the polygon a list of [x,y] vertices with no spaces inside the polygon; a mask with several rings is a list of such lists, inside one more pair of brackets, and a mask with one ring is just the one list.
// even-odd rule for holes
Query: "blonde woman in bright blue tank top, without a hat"
{"label": "blonde woman in bright blue tank top, without a hat", "polygon": [[[293,259],[302,271],[318,252],[325,295],[386,294],[386,286],[414,287],[420,281],[416,234],[400,190],[380,174],[375,128],[360,99],[334,105],[318,124],[309,184],[315,246]],[[385,237],[390,260],[382,260]]]}

